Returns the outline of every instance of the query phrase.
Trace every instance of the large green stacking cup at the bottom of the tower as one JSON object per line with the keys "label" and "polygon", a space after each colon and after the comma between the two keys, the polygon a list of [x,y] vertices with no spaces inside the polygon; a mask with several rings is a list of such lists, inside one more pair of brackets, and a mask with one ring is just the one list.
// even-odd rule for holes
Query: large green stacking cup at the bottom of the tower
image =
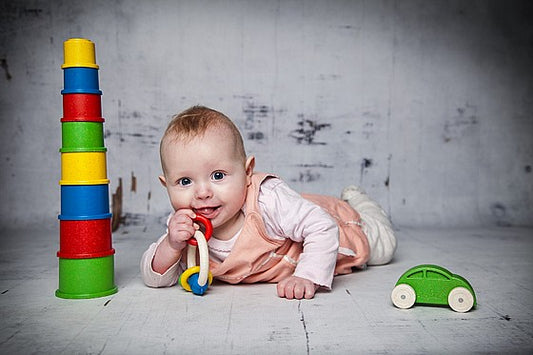
{"label": "large green stacking cup at the bottom of the tower", "polygon": [[59,258],[59,289],[56,296],[85,299],[109,296],[118,291],[114,255],[91,259]]}

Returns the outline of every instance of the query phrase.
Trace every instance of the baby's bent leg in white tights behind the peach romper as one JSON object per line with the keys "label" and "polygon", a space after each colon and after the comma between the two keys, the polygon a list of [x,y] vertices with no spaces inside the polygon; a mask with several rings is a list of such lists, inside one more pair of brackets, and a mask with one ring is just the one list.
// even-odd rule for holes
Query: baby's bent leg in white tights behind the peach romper
{"label": "baby's bent leg in white tights behind the peach romper", "polygon": [[370,245],[368,265],[382,265],[391,261],[396,250],[396,237],[383,209],[356,186],[348,186],[341,198],[361,216],[363,232]]}

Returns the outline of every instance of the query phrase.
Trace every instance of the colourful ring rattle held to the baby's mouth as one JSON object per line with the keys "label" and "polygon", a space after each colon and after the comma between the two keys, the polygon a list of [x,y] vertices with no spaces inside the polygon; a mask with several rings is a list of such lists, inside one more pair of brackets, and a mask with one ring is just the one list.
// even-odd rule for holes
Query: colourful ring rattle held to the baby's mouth
{"label": "colourful ring rattle held to the baby's mouth", "polygon": [[[201,215],[196,215],[193,220],[204,225],[205,235],[202,231],[197,230],[194,236],[189,239],[187,270],[180,275],[178,283],[185,290],[201,296],[213,281],[213,275],[209,271],[209,250],[207,249],[207,241],[211,238],[213,226],[209,219]],[[196,266],[196,249],[200,254],[200,266]]]}

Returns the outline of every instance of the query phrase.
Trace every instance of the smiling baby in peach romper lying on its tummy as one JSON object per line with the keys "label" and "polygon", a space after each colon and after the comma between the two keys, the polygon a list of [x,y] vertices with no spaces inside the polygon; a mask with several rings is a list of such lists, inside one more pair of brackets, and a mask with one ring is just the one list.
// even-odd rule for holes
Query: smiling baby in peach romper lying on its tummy
{"label": "smiling baby in peach romper lying on its tummy", "polygon": [[224,114],[195,106],[176,115],[160,146],[163,175],[174,212],[167,232],[143,254],[141,274],[150,287],[172,286],[186,268],[187,240],[211,220],[208,242],[214,278],[277,282],[288,299],[313,298],[331,289],[333,276],[388,263],[396,249],[383,210],[356,187],[339,200],[300,195],[274,175],[254,172],[239,130]]}

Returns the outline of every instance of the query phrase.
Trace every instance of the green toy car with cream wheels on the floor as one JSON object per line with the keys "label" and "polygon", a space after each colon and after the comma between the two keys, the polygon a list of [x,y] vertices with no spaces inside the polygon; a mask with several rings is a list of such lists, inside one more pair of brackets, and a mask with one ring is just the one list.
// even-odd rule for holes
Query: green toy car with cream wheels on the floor
{"label": "green toy car with cream wheels on the floor", "polygon": [[415,303],[449,305],[456,312],[468,312],[476,305],[476,294],[470,283],[437,265],[418,265],[400,277],[391,293],[398,308],[411,308]]}

